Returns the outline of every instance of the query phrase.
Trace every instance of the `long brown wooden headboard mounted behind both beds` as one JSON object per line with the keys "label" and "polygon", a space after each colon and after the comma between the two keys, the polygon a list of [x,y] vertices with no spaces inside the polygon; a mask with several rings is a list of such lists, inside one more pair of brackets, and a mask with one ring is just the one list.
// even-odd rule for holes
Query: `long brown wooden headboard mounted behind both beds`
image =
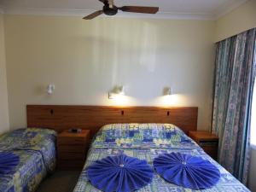
{"label": "long brown wooden headboard mounted behind both beds", "polygon": [[171,123],[188,133],[197,129],[197,113],[196,107],[26,106],[28,127],[58,132],[70,128],[90,129],[92,136],[102,125],[113,123]]}

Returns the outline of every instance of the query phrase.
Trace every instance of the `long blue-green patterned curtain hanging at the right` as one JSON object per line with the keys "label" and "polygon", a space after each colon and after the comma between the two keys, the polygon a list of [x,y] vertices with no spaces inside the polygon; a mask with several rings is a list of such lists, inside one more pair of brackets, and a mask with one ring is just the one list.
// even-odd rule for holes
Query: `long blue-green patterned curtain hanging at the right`
{"label": "long blue-green patterned curtain hanging at the right", "polygon": [[212,132],[218,161],[247,184],[256,28],[217,44]]}

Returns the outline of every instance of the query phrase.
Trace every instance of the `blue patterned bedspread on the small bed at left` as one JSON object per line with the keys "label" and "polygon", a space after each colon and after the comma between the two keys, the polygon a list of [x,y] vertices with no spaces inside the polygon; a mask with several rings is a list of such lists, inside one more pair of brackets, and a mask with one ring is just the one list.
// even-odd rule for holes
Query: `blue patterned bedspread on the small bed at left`
{"label": "blue patterned bedspread on the small bed at left", "polygon": [[20,163],[9,174],[0,175],[0,192],[35,191],[44,177],[55,170],[55,131],[27,128],[0,136],[0,152],[20,157]]}

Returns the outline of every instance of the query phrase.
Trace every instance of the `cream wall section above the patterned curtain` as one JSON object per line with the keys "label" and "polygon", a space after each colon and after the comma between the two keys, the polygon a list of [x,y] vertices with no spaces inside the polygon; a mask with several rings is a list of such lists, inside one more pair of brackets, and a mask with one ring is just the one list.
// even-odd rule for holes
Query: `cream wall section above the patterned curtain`
{"label": "cream wall section above the patterned curtain", "polygon": [[218,42],[238,33],[256,27],[256,0],[249,0],[229,14],[216,21],[216,37]]}

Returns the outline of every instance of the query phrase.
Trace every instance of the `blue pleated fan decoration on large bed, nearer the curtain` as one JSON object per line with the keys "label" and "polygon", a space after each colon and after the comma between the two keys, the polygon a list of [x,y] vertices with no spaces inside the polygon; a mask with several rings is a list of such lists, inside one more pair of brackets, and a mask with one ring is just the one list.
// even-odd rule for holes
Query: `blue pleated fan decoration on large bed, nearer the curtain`
{"label": "blue pleated fan decoration on large bed, nearer the curtain", "polygon": [[162,154],[154,169],[167,182],[189,189],[207,189],[218,183],[220,172],[209,160],[189,154]]}

